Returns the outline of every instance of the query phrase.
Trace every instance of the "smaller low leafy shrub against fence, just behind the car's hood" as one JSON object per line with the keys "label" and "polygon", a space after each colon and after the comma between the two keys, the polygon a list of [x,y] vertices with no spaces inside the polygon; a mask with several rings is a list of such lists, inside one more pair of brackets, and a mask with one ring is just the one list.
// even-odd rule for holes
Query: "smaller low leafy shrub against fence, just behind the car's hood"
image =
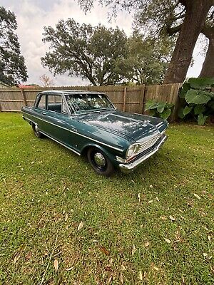
{"label": "smaller low leafy shrub against fence, just behind the car's hood", "polygon": [[155,102],[153,100],[149,100],[146,103],[145,110],[149,110],[149,114],[153,117],[162,118],[163,120],[167,120],[170,116],[173,108],[173,103],[166,102]]}

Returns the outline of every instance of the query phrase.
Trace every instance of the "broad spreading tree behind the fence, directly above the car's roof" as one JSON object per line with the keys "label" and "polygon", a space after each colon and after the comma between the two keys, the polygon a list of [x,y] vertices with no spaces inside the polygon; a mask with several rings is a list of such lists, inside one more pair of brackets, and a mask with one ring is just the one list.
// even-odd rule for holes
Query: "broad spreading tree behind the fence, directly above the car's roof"
{"label": "broad spreading tree behind the fence, directly above the car's roof", "polygon": [[61,20],[56,28],[44,28],[43,41],[51,51],[41,62],[54,74],[81,76],[93,86],[121,83],[126,78],[122,59],[128,55],[127,38],[118,28]]}

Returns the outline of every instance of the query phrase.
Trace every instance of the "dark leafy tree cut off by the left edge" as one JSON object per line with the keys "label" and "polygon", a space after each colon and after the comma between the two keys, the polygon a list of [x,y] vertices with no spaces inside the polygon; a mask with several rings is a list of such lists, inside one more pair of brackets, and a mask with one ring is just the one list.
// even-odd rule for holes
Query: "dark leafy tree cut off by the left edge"
{"label": "dark leafy tree cut off by the left edge", "polygon": [[26,81],[27,71],[21,56],[16,16],[0,6],[0,81],[13,86]]}

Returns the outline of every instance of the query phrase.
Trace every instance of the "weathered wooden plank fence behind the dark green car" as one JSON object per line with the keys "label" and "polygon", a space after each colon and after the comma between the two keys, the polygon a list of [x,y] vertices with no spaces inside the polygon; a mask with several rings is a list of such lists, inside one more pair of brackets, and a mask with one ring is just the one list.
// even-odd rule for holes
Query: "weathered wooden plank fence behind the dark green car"
{"label": "weathered wooden plank fence behind the dark green car", "polygon": [[148,100],[174,103],[171,120],[176,118],[180,83],[154,86],[69,86],[54,88],[0,88],[0,112],[20,112],[22,106],[34,105],[37,93],[43,90],[90,90],[108,95],[118,110],[130,113],[145,113]]}

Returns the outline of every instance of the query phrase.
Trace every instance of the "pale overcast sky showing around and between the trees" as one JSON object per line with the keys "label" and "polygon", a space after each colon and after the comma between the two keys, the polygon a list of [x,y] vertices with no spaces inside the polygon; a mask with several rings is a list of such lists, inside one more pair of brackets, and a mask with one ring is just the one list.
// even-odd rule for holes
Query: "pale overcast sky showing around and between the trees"
{"label": "pale overcast sky showing around and between the trees", "polygon": [[[79,23],[92,24],[93,26],[98,24],[113,28],[118,26],[127,35],[131,33],[132,18],[128,12],[119,13],[118,17],[109,23],[108,9],[98,4],[86,15],[79,8],[77,0],[1,0],[0,4],[16,14],[21,53],[25,58],[29,74],[27,83],[41,84],[39,77],[43,74],[51,78],[54,77],[49,73],[48,68],[41,66],[40,58],[48,51],[48,46],[41,41],[44,26],[55,26],[60,19],[73,18]],[[189,68],[188,77],[197,77],[200,73],[203,64],[200,46],[201,42],[198,42],[193,54],[194,65]],[[56,76],[54,84],[55,86],[82,86],[88,84],[88,81],[63,75]]]}

